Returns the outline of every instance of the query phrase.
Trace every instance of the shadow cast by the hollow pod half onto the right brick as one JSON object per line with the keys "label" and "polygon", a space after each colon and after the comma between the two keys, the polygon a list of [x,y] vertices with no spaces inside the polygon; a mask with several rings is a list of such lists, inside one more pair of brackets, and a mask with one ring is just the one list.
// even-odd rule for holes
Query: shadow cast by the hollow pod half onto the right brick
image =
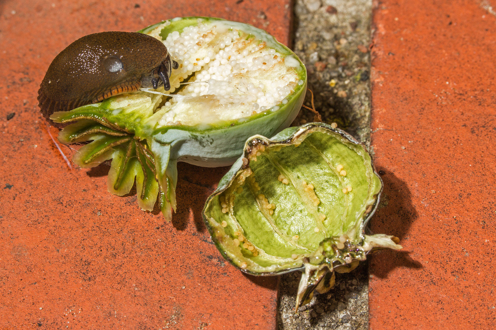
{"label": "shadow cast by the hollow pod half onto the right brick", "polygon": [[[384,169],[378,170],[384,183],[384,190],[377,212],[369,223],[369,228],[373,234],[397,236],[400,239],[399,244],[402,244],[410,238],[408,230],[418,219],[417,211],[412,204],[412,195],[404,181]],[[385,278],[397,267],[423,268],[422,264],[414,260],[409,253],[403,250],[383,250],[372,254],[370,256],[371,274]]]}

